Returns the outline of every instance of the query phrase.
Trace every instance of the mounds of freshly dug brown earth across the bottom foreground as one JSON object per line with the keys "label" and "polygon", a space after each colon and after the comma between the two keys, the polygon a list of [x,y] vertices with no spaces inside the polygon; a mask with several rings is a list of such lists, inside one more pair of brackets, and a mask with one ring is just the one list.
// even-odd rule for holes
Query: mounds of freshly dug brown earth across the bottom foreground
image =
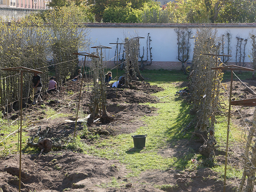
{"label": "mounds of freshly dug brown earth across the bottom foreground", "polygon": [[[61,150],[38,157],[22,155],[22,192],[219,192],[222,181],[211,169],[191,172],[168,169],[148,170],[139,177],[126,177],[129,171],[117,160]],[[0,162],[0,189],[19,191],[19,155]],[[113,186],[113,179],[120,187]],[[233,192],[234,184],[226,190]]]}

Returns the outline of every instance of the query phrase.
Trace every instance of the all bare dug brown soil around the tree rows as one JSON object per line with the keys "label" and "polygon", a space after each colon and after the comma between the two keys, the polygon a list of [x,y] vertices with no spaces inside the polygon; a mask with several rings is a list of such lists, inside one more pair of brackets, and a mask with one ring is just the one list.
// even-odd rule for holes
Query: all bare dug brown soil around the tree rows
{"label": "all bare dug brown soil around the tree rows", "polygon": [[[249,87],[256,90],[256,82],[248,81]],[[255,94],[239,84],[233,82],[236,86],[235,92],[237,98],[243,95],[244,98],[253,98]],[[230,82],[226,82],[227,88]],[[188,86],[187,82],[177,83],[175,86],[181,89]],[[114,117],[110,123],[94,122],[88,130],[97,133],[101,139],[108,138],[111,135],[118,135],[122,133],[132,133],[140,126],[145,126],[145,122],[140,120],[141,116],[153,116],[158,109],[148,105],[140,105],[140,103],[156,103],[160,100],[150,95],[163,90],[157,86],[151,86],[147,83],[132,82],[131,89],[114,89],[107,88],[107,102],[108,114]],[[246,89],[246,90],[245,90]],[[44,104],[50,106],[53,110],[60,111],[67,114],[65,117],[46,119],[45,109],[40,106],[32,106],[28,104],[26,111],[28,117],[27,124],[30,124],[26,130],[27,135],[39,136],[41,138],[50,138],[53,143],[58,142],[59,145],[64,144],[68,139],[68,135],[74,134],[75,127],[75,108],[78,102],[77,95],[73,96],[71,93],[76,93],[80,90],[78,82],[70,82],[67,87],[60,91],[60,94],[51,93],[44,95]],[[223,93],[222,96],[225,96]],[[87,91],[83,91],[82,103],[80,103],[81,111],[89,114],[89,97]],[[184,99],[189,99],[188,96],[177,96]],[[61,100],[59,105],[56,102],[49,102],[49,100]],[[186,101],[186,100],[185,100]],[[248,122],[254,108],[248,107],[242,110],[243,114],[247,116]],[[241,118],[237,118],[237,111],[232,111],[232,121],[244,126]],[[14,111],[9,114],[10,118],[15,120],[18,112]],[[86,115],[79,115],[83,119]],[[5,116],[6,118],[6,116]],[[68,120],[68,121],[67,121]],[[82,121],[82,120],[81,120]],[[81,121],[77,123],[77,130],[81,130],[83,125]],[[6,135],[2,135],[4,138]],[[94,140],[84,137],[82,141],[87,145],[93,145]],[[202,143],[191,138],[191,140],[179,140],[176,143],[168,143],[166,148],[160,148],[159,154],[163,157],[177,157],[180,158],[188,153],[197,153],[199,146]],[[242,169],[240,159],[241,151],[236,146],[229,148],[232,153],[230,157],[231,163],[235,164],[237,168]],[[225,156],[220,149],[216,154],[216,159],[220,164],[225,162]],[[57,192],[57,191],[97,191],[97,192],[219,192],[223,190],[223,181],[218,174],[211,169],[199,169],[195,171],[180,171],[168,169],[147,170],[141,172],[139,177],[126,177],[129,170],[125,168],[125,164],[119,163],[117,160],[107,160],[105,158],[98,158],[70,150],[56,149],[49,153],[37,154],[22,154],[22,192]],[[12,154],[0,161],[0,191],[3,192],[17,192],[19,191],[19,155]],[[109,184],[111,180],[116,178],[122,183],[121,187],[111,187]],[[235,191],[235,186],[238,185],[239,179],[230,178],[227,180],[226,191]],[[173,187],[170,187],[173,185]],[[162,187],[158,187],[162,186]]]}

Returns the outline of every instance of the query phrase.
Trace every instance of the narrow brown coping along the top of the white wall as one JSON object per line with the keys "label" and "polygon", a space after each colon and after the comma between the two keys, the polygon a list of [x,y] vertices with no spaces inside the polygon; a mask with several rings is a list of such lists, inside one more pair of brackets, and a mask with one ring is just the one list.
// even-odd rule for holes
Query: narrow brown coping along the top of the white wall
{"label": "narrow brown coping along the top of the white wall", "polygon": [[256,28],[256,23],[83,23],[86,27],[124,28]]}

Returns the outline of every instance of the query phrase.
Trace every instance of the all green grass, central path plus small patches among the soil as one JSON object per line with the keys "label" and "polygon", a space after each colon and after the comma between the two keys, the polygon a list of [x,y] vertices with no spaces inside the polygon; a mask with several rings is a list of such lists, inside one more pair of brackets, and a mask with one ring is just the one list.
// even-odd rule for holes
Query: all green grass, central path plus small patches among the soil
{"label": "all green grass, central path plus small patches among the soil", "polygon": [[[115,71],[112,71],[113,77],[115,76]],[[122,75],[123,71],[118,71],[118,75]],[[249,76],[250,74],[247,74]],[[180,139],[190,139],[190,133],[181,133],[183,127],[187,125],[193,117],[189,115],[189,110],[191,109],[191,105],[187,103],[183,99],[183,97],[175,96],[176,91],[179,91],[181,87],[177,87],[177,84],[182,81],[187,81],[186,76],[180,71],[168,71],[168,70],[145,70],[142,72],[142,76],[145,78],[145,81],[149,82],[151,85],[156,85],[162,87],[164,90],[153,94],[155,96],[164,97],[161,99],[160,103],[152,104],[146,103],[149,106],[153,106],[158,108],[158,111],[154,111],[157,113],[156,116],[144,116],[141,117],[142,121],[145,121],[145,126],[138,128],[135,133],[131,134],[121,134],[117,136],[111,136],[105,140],[99,140],[98,137],[95,136],[98,142],[95,145],[89,146],[85,143],[82,143],[80,138],[76,138],[76,140],[72,143],[68,144],[69,149],[79,148],[82,149],[83,153],[87,153],[90,155],[95,155],[99,157],[104,157],[108,159],[117,159],[122,163],[125,163],[126,167],[132,170],[129,176],[138,176],[141,171],[148,169],[176,169],[176,170],[185,170],[190,168],[191,166],[191,158],[197,157],[197,160],[204,159],[199,154],[195,153],[185,153],[184,156],[177,157],[163,157],[158,151],[159,149],[164,149],[167,145],[175,146],[177,141]],[[246,75],[243,74],[243,78]],[[230,74],[226,73],[224,75],[224,79],[230,78]],[[47,116],[52,115],[52,111],[47,112]],[[221,140],[226,140],[226,121],[223,117],[217,118],[218,124],[216,125],[216,140],[219,145],[224,147],[224,144],[221,143]],[[6,122],[0,118],[0,124],[5,126],[6,128],[1,129],[0,133],[3,131],[8,131],[12,127],[8,127]],[[13,130],[17,128],[13,127]],[[85,126],[86,129],[86,126]],[[85,131],[85,130],[84,130]],[[193,131],[193,128],[192,130]],[[234,127],[234,138],[239,138],[240,133],[236,131]],[[10,130],[8,131],[10,132]],[[137,134],[147,134],[146,137],[146,148],[142,150],[130,150],[133,148],[133,139],[131,135]],[[73,136],[72,136],[73,137]],[[27,139],[23,137],[24,139]],[[13,137],[14,140],[17,140],[17,135]],[[233,138],[230,138],[231,141]],[[8,141],[0,144],[1,153],[3,155],[8,150],[9,144]],[[25,142],[25,141],[23,141]],[[14,143],[12,145],[15,145]],[[5,147],[6,146],[6,147]],[[16,147],[16,146],[15,146]],[[26,149],[28,152],[29,148]],[[31,149],[31,153],[33,150]],[[222,172],[222,167],[216,169],[219,172]],[[232,173],[229,174],[232,177]],[[239,173],[236,173],[239,175]]]}

